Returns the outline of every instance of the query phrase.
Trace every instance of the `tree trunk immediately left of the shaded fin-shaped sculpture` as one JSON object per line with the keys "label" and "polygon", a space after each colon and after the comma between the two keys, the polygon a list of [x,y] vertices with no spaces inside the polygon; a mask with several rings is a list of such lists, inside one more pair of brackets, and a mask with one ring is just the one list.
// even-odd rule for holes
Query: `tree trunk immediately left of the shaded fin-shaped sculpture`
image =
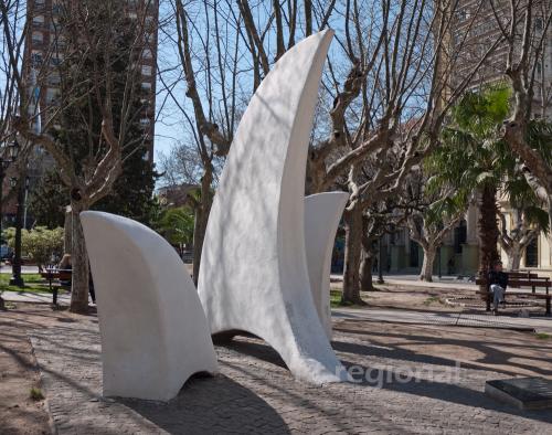
{"label": "tree trunk immediately left of the shaded fin-shaped sculpture", "polygon": [[88,255],[84,241],[83,226],[81,224],[82,211],[88,208],[78,202],[71,203],[72,221],[72,255],[73,266],[72,286],[71,286],[71,312],[86,314],[88,311]]}

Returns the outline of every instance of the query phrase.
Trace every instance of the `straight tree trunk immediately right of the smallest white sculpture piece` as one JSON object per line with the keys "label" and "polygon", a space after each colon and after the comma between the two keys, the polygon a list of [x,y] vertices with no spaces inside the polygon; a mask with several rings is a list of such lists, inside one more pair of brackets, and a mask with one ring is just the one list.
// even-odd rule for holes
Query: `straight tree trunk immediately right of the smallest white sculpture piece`
{"label": "straight tree trunk immediately right of the smallest white sculpture piece", "polygon": [[343,294],[341,301],[364,305],[360,297],[360,255],[362,251],[362,209],[346,210],[346,252],[343,267]]}

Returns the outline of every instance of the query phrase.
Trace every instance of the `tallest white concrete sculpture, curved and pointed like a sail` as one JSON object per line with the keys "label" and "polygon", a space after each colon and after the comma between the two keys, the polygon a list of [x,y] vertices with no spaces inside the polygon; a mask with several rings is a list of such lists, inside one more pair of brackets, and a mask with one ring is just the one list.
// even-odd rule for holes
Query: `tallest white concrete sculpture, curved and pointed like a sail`
{"label": "tallest white concrete sculpture, curved and pointed like a sail", "polygon": [[305,172],[330,30],[290,49],[242,117],[203,244],[199,294],[211,332],[268,342],[297,379],[347,372],[312,301],[305,253]]}

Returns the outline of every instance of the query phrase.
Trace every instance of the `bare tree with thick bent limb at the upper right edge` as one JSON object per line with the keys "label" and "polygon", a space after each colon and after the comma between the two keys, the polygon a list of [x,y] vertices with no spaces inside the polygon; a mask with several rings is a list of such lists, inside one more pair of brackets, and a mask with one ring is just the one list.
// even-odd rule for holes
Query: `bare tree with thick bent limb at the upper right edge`
{"label": "bare tree with thick bent limb at the upper right edge", "polygon": [[[548,204],[549,223],[552,225],[552,166],[550,157],[544,156],[550,145],[545,144],[539,149],[531,140],[532,128],[542,127],[535,121],[535,115],[550,117],[552,85],[543,78],[543,66],[550,62],[546,56],[550,56],[552,6],[546,0],[512,0],[508,4],[491,1],[491,4],[496,23],[506,41],[508,54],[505,74],[514,96],[512,115],[505,121],[503,138],[523,160],[528,181]],[[551,129],[548,128],[544,134],[549,142]]]}

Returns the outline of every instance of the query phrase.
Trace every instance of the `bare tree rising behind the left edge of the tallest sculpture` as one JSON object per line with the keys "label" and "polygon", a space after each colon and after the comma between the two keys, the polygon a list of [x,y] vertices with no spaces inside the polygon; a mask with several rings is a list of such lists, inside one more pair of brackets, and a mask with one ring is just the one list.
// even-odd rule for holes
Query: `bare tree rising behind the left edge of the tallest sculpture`
{"label": "bare tree rising behind the left edge of the tallest sculpture", "polygon": [[[163,34],[177,47],[180,63],[163,65],[161,79],[167,98],[181,112],[193,138],[188,156],[198,156],[202,167],[193,243],[195,278],[219,162],[230,150],[252,93],[297,38],[311,33],[317,10],[311,2],[301,7],[296,0],[264,1],[254,7],[240,0],[237,8],[229,0],[173,0],[169,4]],[[323,9],[326,23],[333,4]],[[305,29],[299,28],[302,21]],[[178,93],[181,78],[185,81],[188,104]]]}

